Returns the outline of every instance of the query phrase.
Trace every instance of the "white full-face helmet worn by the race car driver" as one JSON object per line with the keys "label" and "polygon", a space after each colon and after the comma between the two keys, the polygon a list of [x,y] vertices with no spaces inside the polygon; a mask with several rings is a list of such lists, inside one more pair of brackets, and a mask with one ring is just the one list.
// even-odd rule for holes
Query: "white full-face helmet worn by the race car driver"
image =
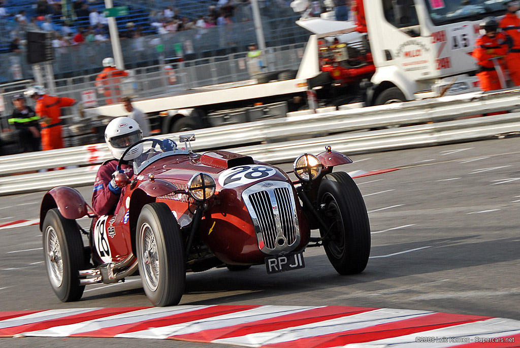
{"label": "white full-face helmet worn by the race car driver", "polygon": [[[128,146],[142,139],[142,130],[130,117],[116,117],[105,129],[105,141],[115,159],[121,159]],[[123,158],[132,160],[142,154],[143,145],[134,146]]]}

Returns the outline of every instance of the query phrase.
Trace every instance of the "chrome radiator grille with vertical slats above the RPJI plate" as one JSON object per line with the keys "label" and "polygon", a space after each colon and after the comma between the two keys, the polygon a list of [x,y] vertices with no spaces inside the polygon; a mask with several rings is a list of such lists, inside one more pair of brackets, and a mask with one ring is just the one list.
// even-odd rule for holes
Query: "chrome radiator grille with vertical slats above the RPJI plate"
{"label": "chrome radiator grille with vertical slats above the RPJI plate", "polygon": [[289,183],[264,181],[244,190],[242,197],[253,220],[262,251],[277,253],[290,251],[291,247],[297,246],[300,230]]}

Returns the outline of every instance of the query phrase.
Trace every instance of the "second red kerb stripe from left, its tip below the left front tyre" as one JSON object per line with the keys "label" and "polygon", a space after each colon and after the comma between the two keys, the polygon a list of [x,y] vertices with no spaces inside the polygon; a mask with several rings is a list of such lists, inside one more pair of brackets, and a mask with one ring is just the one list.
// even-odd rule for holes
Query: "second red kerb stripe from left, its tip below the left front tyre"
{"label": "second red kerb stripe from left, its tip below the left front tyre", "polygon": [[[138,310],[145,309],[145,308],[148,308],[148,307],[103,308],[103,309],[94,310],[94,311],[90,311],[90,312],[86,312],[86,313],[45,320],[43,322],[0,329],[0,337],[11,337],[17,333],[22,333],[22,332],[27,332],[27,331],[45,330],[45,329],[55,327],[55,326],[83,323],[88,320],[104,318],[104,317],[108,317],[111,315],[117,315],[117,314],[122,314],[122,313],[134,312],[134,311],[138,311]],[[30,313],[27,313],[27,314],[30,314]]]}

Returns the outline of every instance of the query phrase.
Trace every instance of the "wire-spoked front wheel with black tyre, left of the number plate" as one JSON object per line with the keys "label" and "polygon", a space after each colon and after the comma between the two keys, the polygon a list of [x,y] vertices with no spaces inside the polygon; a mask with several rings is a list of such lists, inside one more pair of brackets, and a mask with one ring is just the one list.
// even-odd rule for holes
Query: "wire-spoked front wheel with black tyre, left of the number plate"
{"label": "wire-spoked front wheel with black tyre, left of the number plate", "polygon": [[186,283],[184,243],[179,224],[166,204],[150,203],[142,208],[136,240],[146,296],[155,306],[176,305]]}

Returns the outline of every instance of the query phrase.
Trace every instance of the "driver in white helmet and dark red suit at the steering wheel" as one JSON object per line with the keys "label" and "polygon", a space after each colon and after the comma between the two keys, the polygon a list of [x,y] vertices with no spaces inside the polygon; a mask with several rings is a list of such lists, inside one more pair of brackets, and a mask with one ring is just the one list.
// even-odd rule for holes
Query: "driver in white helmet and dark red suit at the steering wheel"
{"label": "driver in white helmet and dark red suit at the steering wheel", "polygon": [[[128,146],[141,139],[142,131],[139,124],[129,117],[114,118],[105,129],[105,141],[114,159],[108,160],[99,167],[94,182],[92,208],[98,215],[107,215],[119,210],[122,189],[115,183],[115,176],[120,172],[116,169]],[[140,156],[142,150],[142,144],[133,146],[121,161],[121,171],[125,172],[128,178],[134,175],[129,161]]]}

